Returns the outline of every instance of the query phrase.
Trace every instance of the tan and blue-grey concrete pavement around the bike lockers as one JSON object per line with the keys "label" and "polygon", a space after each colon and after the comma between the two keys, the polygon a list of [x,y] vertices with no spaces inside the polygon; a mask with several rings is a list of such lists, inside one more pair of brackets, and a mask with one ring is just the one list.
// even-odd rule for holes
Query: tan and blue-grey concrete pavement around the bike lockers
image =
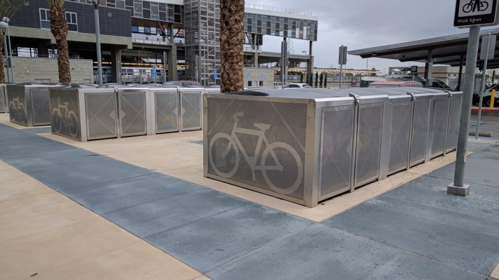
{"label": "tan and blue-grey concrete pavement around the bike lockers", "polygon": [[466,198],[452,153],[306,208],[203,178],[200,131],[0,123],[2,279],[499,279],[494,141],[469,143]]}

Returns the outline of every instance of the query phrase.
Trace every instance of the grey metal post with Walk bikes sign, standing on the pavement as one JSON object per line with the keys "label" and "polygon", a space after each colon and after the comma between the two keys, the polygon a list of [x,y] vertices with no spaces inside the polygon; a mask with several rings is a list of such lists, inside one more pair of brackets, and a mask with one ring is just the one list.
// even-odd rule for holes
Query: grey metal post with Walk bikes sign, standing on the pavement
{"label": "grey metal post with Walk bikes sign, standing on the pavement", "polygon": [[466,55],[465,88],[462,95],[459,122],[458,147],[455,155],[454,182],[447,186],[448,194],[467,196],[469,185],[464,184],[466,152],[468,144],[469,117],[472,109],[474,72],[477,66],[478,46],[481,25],[498,23],[498,0],[456,0],[454,26],[469,27]]}

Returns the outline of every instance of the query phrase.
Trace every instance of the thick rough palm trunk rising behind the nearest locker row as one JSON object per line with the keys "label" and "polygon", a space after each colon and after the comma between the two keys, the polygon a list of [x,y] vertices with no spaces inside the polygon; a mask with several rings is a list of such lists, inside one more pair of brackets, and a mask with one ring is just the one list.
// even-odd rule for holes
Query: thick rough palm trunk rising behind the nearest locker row
{"label": "thick rough palm trunk rising behind the nearest locker row", "polygon": [[220,57],[222,93],[244,89],[244,0],[220,0]]}

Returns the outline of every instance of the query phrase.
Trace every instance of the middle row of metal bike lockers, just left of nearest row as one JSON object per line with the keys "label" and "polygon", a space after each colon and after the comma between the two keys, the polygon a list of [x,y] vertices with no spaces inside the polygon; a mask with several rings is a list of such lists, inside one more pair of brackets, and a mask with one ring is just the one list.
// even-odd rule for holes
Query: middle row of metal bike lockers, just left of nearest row
{"label": "middle row of metal bike lockers, just left of nearest row", "polygon": [[52,133],[86,141],[200,130],[204,92],[119,84],[50,88]]}

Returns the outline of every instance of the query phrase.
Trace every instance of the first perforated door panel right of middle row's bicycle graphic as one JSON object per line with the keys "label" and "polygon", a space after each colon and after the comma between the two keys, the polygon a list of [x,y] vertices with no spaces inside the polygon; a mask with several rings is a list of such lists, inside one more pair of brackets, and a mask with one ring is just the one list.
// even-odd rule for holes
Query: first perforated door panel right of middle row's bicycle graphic
{"label": "first perforated door panel right of middle row's bicycle graphic", "polygon": [[86,130],[89,140],[115,138],[115,93],[85,93]]}

